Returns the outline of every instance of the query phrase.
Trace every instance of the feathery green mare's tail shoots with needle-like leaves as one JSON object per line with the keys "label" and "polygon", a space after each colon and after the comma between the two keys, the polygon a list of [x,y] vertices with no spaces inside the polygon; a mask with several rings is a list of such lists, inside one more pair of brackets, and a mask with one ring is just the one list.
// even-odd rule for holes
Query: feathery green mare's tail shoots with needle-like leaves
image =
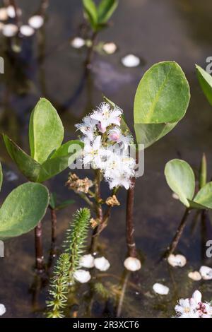
{"label": "feathery green mare's tail shoots with needle-like leaves", "polygon": [[49,297],[51,300],[47,301],[48,318],[64,317],[69,287],[74,283],[74,274],[79,268],[79,261],[86,245],[89,221],[88,208],[81,208],[73,215],[64,240],[65,252],[59,256],[54,276],[50,282]]}

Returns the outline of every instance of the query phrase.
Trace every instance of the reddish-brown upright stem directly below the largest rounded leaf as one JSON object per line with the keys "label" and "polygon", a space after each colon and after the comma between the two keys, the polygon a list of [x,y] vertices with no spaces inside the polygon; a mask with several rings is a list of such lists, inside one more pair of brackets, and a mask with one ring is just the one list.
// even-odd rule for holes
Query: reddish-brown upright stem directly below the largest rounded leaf
{"label": "reddish-brown upright stem directly below the largest rounded leaf", "polygon": [[128,255],[136,257],[136,242],[134,239],[134,194],[135,194],[136,178],[131,179],[131,187],[127,191],[126,198],[126,244]]}

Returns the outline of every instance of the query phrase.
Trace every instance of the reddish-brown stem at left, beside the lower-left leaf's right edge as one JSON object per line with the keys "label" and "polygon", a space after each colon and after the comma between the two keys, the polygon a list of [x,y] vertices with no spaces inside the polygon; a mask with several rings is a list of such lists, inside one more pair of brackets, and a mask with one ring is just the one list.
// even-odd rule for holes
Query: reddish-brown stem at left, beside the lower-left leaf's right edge
{"label": "reddish-brown stem at left, beside the lower-left leaf's right edge", "polygon": [[37,272],[44,271],[44,256],[42,251],[42,223],[35,227],[35,268]]}

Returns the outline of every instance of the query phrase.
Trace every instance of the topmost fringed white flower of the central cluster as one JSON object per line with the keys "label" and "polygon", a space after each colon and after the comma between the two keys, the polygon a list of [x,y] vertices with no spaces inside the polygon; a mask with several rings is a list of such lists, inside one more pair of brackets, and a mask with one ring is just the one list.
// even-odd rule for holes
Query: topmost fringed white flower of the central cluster
{"label": "topmost fringed white flower of the central cluster", "polygon": [[107,126],[110,124],[116,124],[120,126],[120,116],[122,115],[122,109],[119,107],[110,108],[110,104],[107,102],[102,102],[98,110],[90,114],[92,119],[98,121],[98,129],[103,134],[105,133]]}

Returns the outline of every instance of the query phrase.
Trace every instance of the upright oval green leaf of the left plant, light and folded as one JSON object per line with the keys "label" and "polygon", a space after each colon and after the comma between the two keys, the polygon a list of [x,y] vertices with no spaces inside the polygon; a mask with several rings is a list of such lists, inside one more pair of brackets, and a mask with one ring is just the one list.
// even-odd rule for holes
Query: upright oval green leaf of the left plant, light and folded
{"label": "upright oval green leaf of the left plant, light and folded", "polygon": [[57,110],[45,98],[41,98],[30,117],[29,127],[31,157],[42,164],[64,139],[64,126]]}

